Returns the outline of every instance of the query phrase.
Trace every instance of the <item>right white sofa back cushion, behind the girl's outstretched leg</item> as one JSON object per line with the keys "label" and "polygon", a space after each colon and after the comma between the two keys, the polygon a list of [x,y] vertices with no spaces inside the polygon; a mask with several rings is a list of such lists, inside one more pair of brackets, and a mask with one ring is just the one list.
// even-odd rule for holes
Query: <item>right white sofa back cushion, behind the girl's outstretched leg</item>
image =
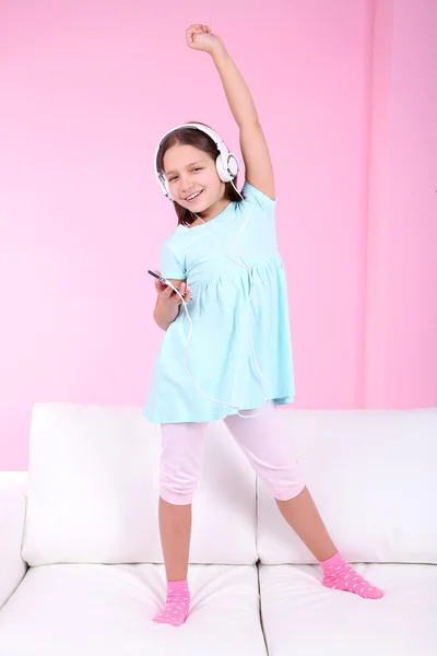
{"label": "right white sofa back cushion, behind the girl's outstretched leg", "polygon": [[[280,414],[345,559],[437,563],[437,408]],[[317,562],[261,481],[257,543],[265,564]]]}

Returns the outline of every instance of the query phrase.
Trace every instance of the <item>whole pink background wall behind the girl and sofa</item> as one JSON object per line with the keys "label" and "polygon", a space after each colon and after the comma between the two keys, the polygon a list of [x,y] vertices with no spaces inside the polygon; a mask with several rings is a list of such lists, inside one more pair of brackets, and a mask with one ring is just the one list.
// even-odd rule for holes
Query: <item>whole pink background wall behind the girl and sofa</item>
{"label": "whole pink background wall behind the girl and sofa", "polygon": [[0,8],[0,469],[27,468],[36,401],[145,400],[163,337],[145,271],[176,225],[156,141],[198,119],[238,153],[185,46],[199,21],[271,147],[296,407],[437,405],[436,3],[145,5]]}

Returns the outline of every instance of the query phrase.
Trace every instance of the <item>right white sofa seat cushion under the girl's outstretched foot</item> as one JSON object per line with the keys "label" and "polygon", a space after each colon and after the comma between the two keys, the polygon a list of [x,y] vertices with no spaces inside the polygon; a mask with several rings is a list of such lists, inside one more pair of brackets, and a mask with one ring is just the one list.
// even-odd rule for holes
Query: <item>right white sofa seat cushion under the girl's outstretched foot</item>
{"label": "right white sofa seat cushion under the girl's outstretched foot", "polygon": [[381,599],[323,587],[318,565],[260,565],[270,656],[435,656],[437,566],[354,566],[385,590]]}

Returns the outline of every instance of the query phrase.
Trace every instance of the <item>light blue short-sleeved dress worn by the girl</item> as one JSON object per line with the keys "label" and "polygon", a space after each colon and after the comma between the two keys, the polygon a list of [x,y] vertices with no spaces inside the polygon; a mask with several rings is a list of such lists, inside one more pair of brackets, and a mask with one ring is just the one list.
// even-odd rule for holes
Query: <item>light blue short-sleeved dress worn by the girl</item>
{"label": "light blue short-sleeved dress worn by the girl", "polygon": [[[187,279],[191,289],[187,309],[192,336],[186,359],[190,374],[206,396],[247,410],[269,399],[292,403],[295,387],[276,201],[249,183],[243,196],[244,201],[231,202],[206,223],[178,225],[163,245],[160,268],[165,278]],[[235,249],[251,270],[250,301],[250,277]],[[143,410],[153,423],[203,422],[237,413],[206,399],[186,372],[189,329],[181,305],[165,332]],[[250,336],[258,367],[272,389],[257,371]]]}

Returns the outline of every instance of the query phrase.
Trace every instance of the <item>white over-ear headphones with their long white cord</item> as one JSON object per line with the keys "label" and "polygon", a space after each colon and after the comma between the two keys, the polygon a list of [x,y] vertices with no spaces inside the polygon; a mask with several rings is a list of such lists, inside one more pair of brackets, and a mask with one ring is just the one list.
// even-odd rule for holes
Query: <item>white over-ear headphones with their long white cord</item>
{"label": "white over-ear headphones with their long white cord", "polygon": [[[178,130],[179,128],[193,128],[193,129],[197,129],[197,130],[201,130],[202,132],[204,132],[205,134],[208,134],[209,137],[211,137],[211,139],[214,141],[214,143],[216,144],[216,147],[218,149],[218,155],[217,155],[217,159],[215,160],[215,166],[216,166],[220,179],[223,183],[232,183],[234,189],[241,197],[241,200],[244,200],[241,194],[238,191],[238,189],[236,188],[236,186],[233,183],[233,179],[235,178],[235,176],[237,175],[237,173],[239,171],[237,157],[233,153],[229,153],[229,151],[227,150],[227,147],[226,147],[225,142],[223,141],[223,139],[221,139],[221,137],[218,137],[218,134],[216,132],[214,132],[214,130],[212,130],[211,128],[208,128],[206,126],[203,126],[201,124],[182,124],[181,126],[177,126],[176,128],[173,128],[172,130],[169,130],[168,132],[166,132],[164,134],[164,137],[161,138],[161,141],[160,141],[160,143],[158,143],[158,145],[156,148],[155,157],[154,157],[155,175],[156,175],[157,181],[160,184],[160,187],[163,189],[163,191],[164,191],[165,196],[168,198],[168,200],[174,201],[175,199],[173,198],[173,196],[170,194],[170,190],[168,188],[168,180],[165,177],[164,172],[163,171],[158,171],[158,167],[157,167],[157,154],[160,152],[160,148],[161,148],[161,144],[163,143],[164,139],[168,134],[170,134],[172,132],[174,132],[175,130]],[[194,212],[192,212],[192,213],[194,214]],[[198,215],[194,214],[194,216],[198,216]],[[229,246],[232,247],[232,249],[237,254],[237,256],[241,260],[243,266],[245,267],[245,269],[247,269],[247,271],[249,273],[249,279],[250,279],[249,301],[251,302],[251,295],[252,295],[252,290],[253,290],[253,278],[252,278],[252,273],[251,273],[250,267],[245,262],[245,260],[243,259],[241,255],[235,248],[234,244],[232,242],[229,242],[229,239],[227,239],[222,234],[220,234],[215,230],[213,230],[209,225],[208,222],[203,221],[203,219],[201,216],[198,216],[198,219],[200,219],[200,221],[202,221],[202,223],[204,223],[205,225],[208,225],[208,227],[210,230],[212,230],[212,232],[215,233],[218,237],[221,237],[224,242],[227,242],[227,244],[229,244]],[[249,220],[249,216],[247,216],[245,223],[243,224],[243,226],[240,227],[240,230],[238,231],[238,234],[236,236],[238,236],[243,232],[243,230],[246,227],[248,220]],[[189,330],[189,335],[188,335],[188,340],[187,340],[187,344],[186,344],[185,352],[184,352],[184,368],[186,370],[186,372],[189,375],[189,377],[191,378],[191,380],[194,383],[194,385],[198,388],[198,390],[200,391],[200,394],[202,396],[204,396],[206,399],[209,399],[210,401],[214,401],[214,403],[221,403],[223,406],[228,406],[231,408],[235,408],[237,410],[237,414],[239,417],[241,417],[243,419],[250,419],[250,418],[259,417],[260,414],[262,414],[262,411],[259,412],[258,414],[240,414],[238,406],[234,406],[233,403],[229,403],[227,401],[222,401],[220,399],[214,399],[212,397],[209,397],[199,387],[199,384],[197,383],[196,378],[192,376],[192,374],[190,373],[190,371],[187,367],[188,345],[189,345],[191,337],[192,337],[192,321],[191,321],[191,317],[189,315],[189,312],[187,309],[187,304],[185,302],[184,296],[180,294],[179,290],[176,286],[174,286],[174,284],[169,280],[167,280],[165,278],[162,278],[161,280],[165,284],[168,284],[173,289],[173,291],[176,292],[177,295],[180,297],[180,300],[182,302],[182,305],[184,305],[184,309],[185,309],[187,318],[188,318],[188,321],[190,324],[190,330]],[[249,336],[249,339],[250,339],[250,344],[251,344],[251,348],[252,348],[252,353],[253,353],[253,358],[255,358],[257,371],[258,371],[260,377],[267,383],[267,385],[269,386],[270,390],[273,394],[272,386],[270,385],[269,380],[264,377],[264,375],[262,374],[262,372],[260,371],[260,368],[258,366],[258,360],[257,360],[257,355],[256,355],[256,352],[255,352],[255,345],[253,345],[253,341],[252,341],[251,335]],[[273,396],[271,398],[273,398]]]}

